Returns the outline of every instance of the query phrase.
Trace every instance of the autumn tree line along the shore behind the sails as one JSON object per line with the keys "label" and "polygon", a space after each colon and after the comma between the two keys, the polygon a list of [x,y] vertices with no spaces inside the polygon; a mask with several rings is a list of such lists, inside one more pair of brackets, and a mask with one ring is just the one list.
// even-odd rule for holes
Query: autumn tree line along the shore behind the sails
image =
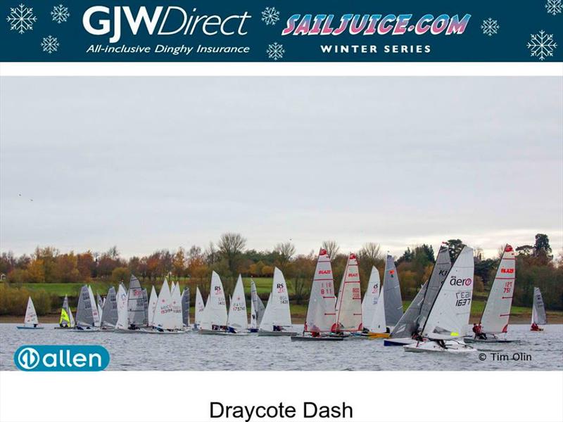
{"label": "autumn tree line along the shore behind the sails", "polygon": [[[464,243],[460,239],[447,242],[452,259],[455,259]],[[348,254],[340,250],[336,241],[324,241],[322,247],[331,257],[335,288],[339,288]],[[483,258],[479,248],[475,250],[476,295],[486,295],[494,279],[504,245],[498,257]],[[553,259],[548,236],[537,234],[533,245],[520,245],[517,251],[517,283],[514,305],[531,306],[533,286],[543,292],[548,309],[563,309],[563,265],[562,260]],[[119,283],[134,274],[141,281],[156,284],[168,277],[170,281],[189,281],[199,286],[204,297],[208,293],[212,271],[220,274],[227,293],[232,292],[239,274],[253,277],[272,277],[274,267],[283,271],[291,300],[307,302],[312,276],[315,272],[317,250],[308,254],[296,254],[291,242],[278,243],[272,250],[246,248],[246,238],[238,233],[226,233],[217,243],[210,242],[205,248],[192,246],[177,250],[162,249],[146,256],[125,259],[115,246],[106,252],[65,252],[56,248],[36,248],[32,255],[16,257],[12,252],[0,256],[0,274],[4,274],[11,285],[23,283],[89,283],[110,281]],[[360,267],[362,289],[365,290],[372,267],[377,267],[381,279],[385,267],[385,254],[377,243],[366,243],[356,252]],[[408,247],[396,258],[403,299],[414,298],[417,290],[432,271],[435,252],[431,245]],[[195,289],[194,289],[195,290]],[[3,290],[3,295],[6,295]],[[194,294],[192,292],[192,294]],[[265,298],[267,299],[267,298]],[[0,309],[1,313],[1,309]]]}

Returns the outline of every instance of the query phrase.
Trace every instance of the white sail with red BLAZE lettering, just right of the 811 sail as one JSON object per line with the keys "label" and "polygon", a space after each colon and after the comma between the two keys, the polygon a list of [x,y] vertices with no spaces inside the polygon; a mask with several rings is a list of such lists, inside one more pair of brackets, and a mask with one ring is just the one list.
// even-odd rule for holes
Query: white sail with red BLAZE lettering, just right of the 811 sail
{"label": "white sail with red BLAZE lettering, just right of the 811 sail", "polygon": [[356,255],[350,253],[336,300],[336,331],[362,330],[362,293]]}

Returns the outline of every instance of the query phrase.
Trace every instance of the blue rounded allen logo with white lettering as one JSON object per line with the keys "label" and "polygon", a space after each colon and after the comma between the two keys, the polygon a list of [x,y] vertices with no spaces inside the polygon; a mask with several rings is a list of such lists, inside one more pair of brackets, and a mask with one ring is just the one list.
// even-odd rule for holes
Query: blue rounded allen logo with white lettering
{"label": "blue rounded allen logo with white lettering", "polygon": [[96,345],[25,345],[13,362],[22,371],[103,371],[110,354]]}

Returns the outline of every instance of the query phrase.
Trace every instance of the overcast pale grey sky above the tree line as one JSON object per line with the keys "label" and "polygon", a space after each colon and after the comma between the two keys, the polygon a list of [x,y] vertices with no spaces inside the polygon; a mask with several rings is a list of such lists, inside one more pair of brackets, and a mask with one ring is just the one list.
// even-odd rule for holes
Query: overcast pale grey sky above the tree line
{"label": "overcast pale grey sky above the tree line", "polygon": [[[563,242],[558,77],[4,77],[0,247]],[[21,194],[21,196],[18,196]],[[32,201],[30,200],[32,199]]]}

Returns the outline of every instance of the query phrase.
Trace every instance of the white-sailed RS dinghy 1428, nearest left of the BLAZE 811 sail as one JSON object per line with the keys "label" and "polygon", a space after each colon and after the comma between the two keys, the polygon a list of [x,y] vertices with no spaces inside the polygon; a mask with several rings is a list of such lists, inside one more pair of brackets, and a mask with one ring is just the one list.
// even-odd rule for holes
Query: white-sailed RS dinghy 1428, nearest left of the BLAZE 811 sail
{"label": "white-sailed RS dinghy 1428, nearest left of the BLAZE 811 sail", "polygon": [[266,305],[262,321],[258,327],[258,335],[296,335],[291,331],[291,312],[289,310],[289,295],[284,274],[274,268],[272,292]]}

